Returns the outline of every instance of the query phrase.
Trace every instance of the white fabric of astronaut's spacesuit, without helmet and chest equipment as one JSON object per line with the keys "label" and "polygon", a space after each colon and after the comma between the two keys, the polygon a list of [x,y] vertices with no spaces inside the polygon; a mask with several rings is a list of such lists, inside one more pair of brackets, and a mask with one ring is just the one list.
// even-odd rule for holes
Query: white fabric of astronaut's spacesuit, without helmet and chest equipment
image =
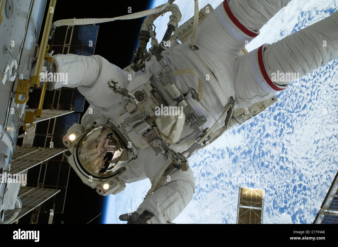
{"label": "white fabric of astronaut's spacesuit, without helmet and chest equipment", "polygon": [[[194,109],[207,117],[201,129],[210,128],[215,123],[214,130],[224,126],[226,114],[222,113],[231,97],[236,108],[246,108],[284,90],[291,81],[277,81],[273,73],[299,73],[302,77],[338,57],[337,11],[279,42],[265,44],[240,56],[241,49],[259,35],[259,29],[290,1],[225,0],[198,26],[194,44],[198,50],[189,48],[190,37],[184,44],[164,53],[164,59],[173,70],[194,70],[204,85],[203,100],[196,102],[190,99]],[[123,71],[98,55],[67,54],[54,55],[53,58],[56,71],[68,73],[68,84],[55,82],[54,87],[77,87],[91,104],[89,109],[92,112],[87,110],[81,120],[84,127],[100,116],[116,120],[125,112],[120,104],[123,101],[121,95],[108,90],[107,81],[114,78],[123,88],[132,91],[161,69],[155,57],[146,63],[144,73]],[[210,79],[206,79],[207,76]],[[189,87],[198,88],[196,75],[173,77],[182,92]],[[187,125],[178,134],[174,144],[170,145],[176,152],[187,150],[198,136],[196,130]],[[129,162],[128,169],[119,175],[119,179],[131,183],[149,178],[156,187],[156,182],[170,163],[170,159],[165,161],[162,155],[156,156],[154,150],[147,146],[139,151],[137,159]],[[153,193],[148,194],[136,213],[151,212],[154,216],[149,217],[148,223],[171,222],[192,199],[194,189],[192,169],[176,169],[160,188],[152,188]],[[120,219],[137,221],[134,214],[130,217],[123,215]]]}

